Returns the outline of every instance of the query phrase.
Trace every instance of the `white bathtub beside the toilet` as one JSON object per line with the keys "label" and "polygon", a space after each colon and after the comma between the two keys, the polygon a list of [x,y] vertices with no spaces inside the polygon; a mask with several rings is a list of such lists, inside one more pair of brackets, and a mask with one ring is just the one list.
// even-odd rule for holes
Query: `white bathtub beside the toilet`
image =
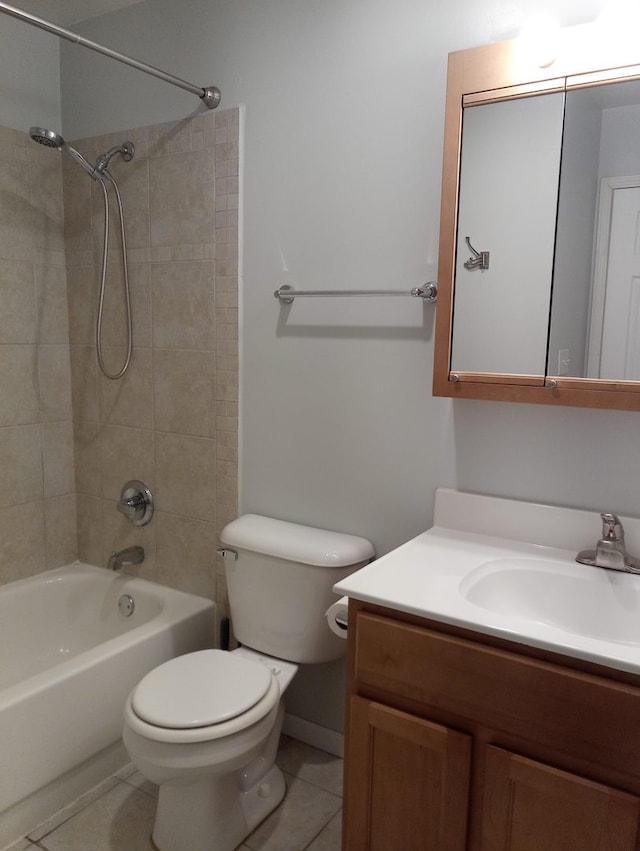
{"label": "white bathtub beside the toilet", "polygon": [[127,762],[133,686],[214,635],[210,600],[88,564],[0,586],[0,848]]}

